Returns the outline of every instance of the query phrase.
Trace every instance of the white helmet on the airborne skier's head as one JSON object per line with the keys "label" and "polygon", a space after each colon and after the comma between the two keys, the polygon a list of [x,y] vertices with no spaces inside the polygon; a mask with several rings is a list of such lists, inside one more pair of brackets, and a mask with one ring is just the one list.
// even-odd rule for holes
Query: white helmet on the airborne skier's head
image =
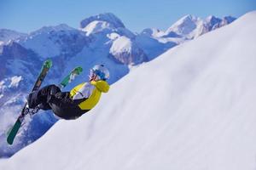
{"label": "white helmet on the airborne skier's head", "polygon": [[95,65],[92,69],[90,69],[90,77],[96,75],[99,80],[108,80],[109,71],[104,65]]}

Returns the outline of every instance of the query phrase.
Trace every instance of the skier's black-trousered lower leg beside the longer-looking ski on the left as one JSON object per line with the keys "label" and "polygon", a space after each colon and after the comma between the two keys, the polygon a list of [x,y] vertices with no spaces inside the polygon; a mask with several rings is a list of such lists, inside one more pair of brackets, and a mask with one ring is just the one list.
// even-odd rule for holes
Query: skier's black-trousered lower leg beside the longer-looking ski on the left
{"label": "skier's black-trousered lower leg beside the longer-looking ski on the left", "polygon": [[47,104],[51,95],[61,92],[61,89],[55,85],[49,85],[44,88],[41,88],[38,91],[32,92],[29,94],[27,103],[29,108],[35,108],[37,105],[44,105],[44,109],[50,109]]}

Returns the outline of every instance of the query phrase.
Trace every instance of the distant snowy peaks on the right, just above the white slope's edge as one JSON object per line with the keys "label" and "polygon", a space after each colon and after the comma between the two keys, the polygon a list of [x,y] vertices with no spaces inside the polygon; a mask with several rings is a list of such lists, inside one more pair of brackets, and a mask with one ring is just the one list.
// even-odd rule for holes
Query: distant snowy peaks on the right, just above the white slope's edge
{"label": "distant snowy peaks on the right, just above the white slope's edge", "polygon": [[154,59],[163,54],[169,48],[173,48],[185,41],[199,37],[209,31],[213,31],[221,26],[229,25],[236,18],[231,16],[224,17],[223,20],[215,16],[209,16],[202,20],[191,14],[183,16],[177,20],[166,31],[147,28],[136,37],[137,44],[143,49],[148,59]]}

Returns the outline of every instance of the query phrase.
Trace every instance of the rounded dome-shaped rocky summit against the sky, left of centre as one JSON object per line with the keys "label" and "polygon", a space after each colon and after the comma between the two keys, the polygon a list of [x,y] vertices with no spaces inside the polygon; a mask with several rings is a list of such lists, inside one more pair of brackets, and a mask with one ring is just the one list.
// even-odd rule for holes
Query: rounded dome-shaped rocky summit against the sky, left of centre
{"label": "rounded dome-shaped rocky summit against the sky, left of centre", "polygon": [[96,20],[108,22],[110,25],[112,25],[115,28],[119,28],[119,27],[125,28],[125,25],[122,23],[122,21],[119,20],[119,18],[112,13],[103,13],[103,14],[90,16],[89,18],[84,19],[80,22],[80,28],[84,28],[88,26],[91,22]]}

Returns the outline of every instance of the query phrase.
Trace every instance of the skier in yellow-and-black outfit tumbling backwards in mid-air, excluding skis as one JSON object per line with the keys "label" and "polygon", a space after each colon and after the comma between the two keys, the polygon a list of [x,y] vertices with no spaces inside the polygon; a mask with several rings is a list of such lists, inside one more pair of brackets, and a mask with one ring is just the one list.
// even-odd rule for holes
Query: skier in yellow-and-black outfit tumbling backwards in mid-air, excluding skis
{"label": "skier in yellow-and-black outfit tumbling backwards in mid-air, excluding skis", "polygon": [[52,110],[58,118],[76,119],[98,103],[102,92],[108,93],[108,78],[108,69],[95,65],[90,69],[89,82],[82,82],[70,92],[61,92],[54,84],[46,86],[28,95],[27,106],[32,112]]}

